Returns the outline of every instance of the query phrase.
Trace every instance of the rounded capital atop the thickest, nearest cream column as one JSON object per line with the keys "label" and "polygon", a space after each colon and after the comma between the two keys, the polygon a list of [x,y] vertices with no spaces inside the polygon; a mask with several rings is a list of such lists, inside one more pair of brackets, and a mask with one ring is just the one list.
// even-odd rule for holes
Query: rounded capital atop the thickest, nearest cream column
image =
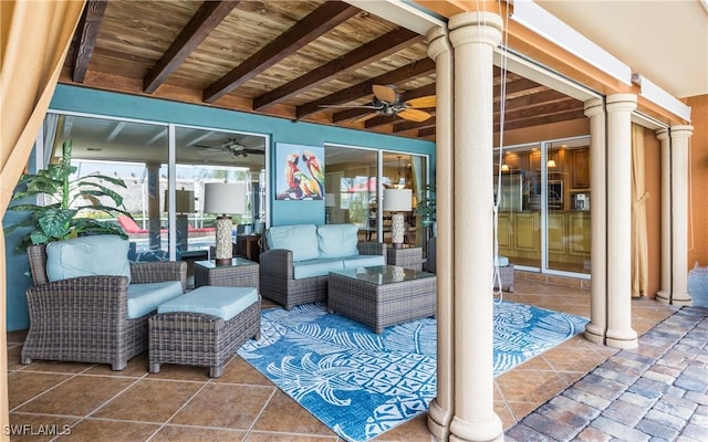
{"label": "rounded capital atop the thickest, nearest cream column", "polygon": [[450,18],[448,28],[455,48],[470,43],[486,43],[497,48],[501,42],[503,21],[491,12],[464,12]]}

